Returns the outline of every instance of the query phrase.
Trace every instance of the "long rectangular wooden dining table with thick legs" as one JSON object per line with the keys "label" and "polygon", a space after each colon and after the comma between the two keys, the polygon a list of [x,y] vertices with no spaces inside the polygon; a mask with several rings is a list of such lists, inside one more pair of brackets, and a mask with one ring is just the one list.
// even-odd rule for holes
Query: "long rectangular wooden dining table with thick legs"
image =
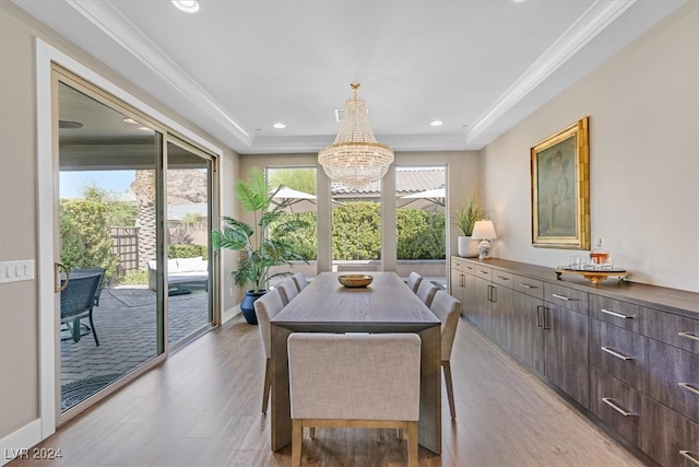
{"label": "long rectangular wooden dining table with thick legs", "polygon": [[345,288],[337,272],[322,272],[272,318],[272,451],[292,442],[292,332],[415,332],[422,339],[419,444],[441,454],[441,323],[395,272],[367,273],[369,287]]}

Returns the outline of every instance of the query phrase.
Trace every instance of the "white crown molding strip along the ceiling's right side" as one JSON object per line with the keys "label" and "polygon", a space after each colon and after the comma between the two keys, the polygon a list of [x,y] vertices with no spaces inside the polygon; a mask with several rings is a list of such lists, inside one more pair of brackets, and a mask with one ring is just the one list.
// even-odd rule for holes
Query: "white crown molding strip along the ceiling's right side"
{"label": "white crown molding strip along the ceiling's right side", "polygon": [[503,115],[541,85],[582,47],[604,31],[637,0],[596,1],[522,75],[502,93],[466,130],[466,141],[475,142]]}

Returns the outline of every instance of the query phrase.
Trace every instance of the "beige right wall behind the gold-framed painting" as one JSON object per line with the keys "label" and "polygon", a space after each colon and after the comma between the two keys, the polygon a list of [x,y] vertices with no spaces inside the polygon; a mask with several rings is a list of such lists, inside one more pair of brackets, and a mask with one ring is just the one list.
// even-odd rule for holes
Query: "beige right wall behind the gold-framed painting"
{"label": "beige right wall behind the gold-framed painting", "polygon": [[559,266],[531,246],[530,148],[590,116],[591,238],[630,280],[699,292],[699,3],[688,2],[484,148],[493,255]]}

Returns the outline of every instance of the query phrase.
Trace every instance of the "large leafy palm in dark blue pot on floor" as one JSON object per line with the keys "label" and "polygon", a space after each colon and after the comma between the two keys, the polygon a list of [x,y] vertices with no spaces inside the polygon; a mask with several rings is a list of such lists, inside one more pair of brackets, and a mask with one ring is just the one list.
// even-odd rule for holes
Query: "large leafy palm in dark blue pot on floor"
{"label": "large leafy palm in dark blue pot on floor", "polygon": [[238,180],[235,190],[242,209],[253,213],[254,224],[249,225],[237,219],[224,217],[223,229],[212,234],[214,247],[239,252],[238,269],[233,271],[232,276],[236,285],[251,287],[240,302],[240,311],[252,325],[258,323],[254,301],[266,293],[268,281],[289,275],[271,273],[270,269],[274,266],[291,265],[293,260],[306,261],[306,258],[294,252],[294,246],[286,241],[286,234],[308,227],[308,223],[286,215],[284,203],[272,202],[281,188],[282,186],[269,185],[260,167],[250,168],[247,180]]}

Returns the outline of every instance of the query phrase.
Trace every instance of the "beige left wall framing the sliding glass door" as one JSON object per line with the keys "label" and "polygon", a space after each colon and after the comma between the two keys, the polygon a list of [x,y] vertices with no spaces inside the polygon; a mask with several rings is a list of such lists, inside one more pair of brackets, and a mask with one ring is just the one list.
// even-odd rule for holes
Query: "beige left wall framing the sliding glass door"
{"label": "beige left wall framing the sliding glass door", "polygon": [[[182,119],[165,105],[154,101],[130,82],[114,73],[106,65],[56,35],[8,1],[0,2],[0,260],[38,260],[39,230],[37,194],[52,190],[37,186],[37,112],[35,39],[40,37],[102,78],[121,87],[156,112],[202,139],[224,145],[210,135]],[[236,178],[238,156],[230,150],[220,157],[220,184],[230,185]],[[222,211],[233,205],[233,197],[222,189]],[[235,209],[235,208],[234,208]],[[228,271],[229,273],[229,271]],[[225,267],[224,267],[225,275]],[[0,284],[0,441],[3,447],[31,442],[31,433],[46,433],[40,427],[40,366],[38,292],[51,283],[37,280]],[[44,289],[42,289],[44,290]],[[222,308],[234,307],[235,297],[223,297]],[[44,350],[45,352],[46,350]],[[56,350],[57,351],[57,350]],[[38,431],[36,427],[39,427]],[[48,428],[50,430],[51,427]],[[27,447],[24,445],[24,447]],[[4,464],[8,459],[2,459]]]}

